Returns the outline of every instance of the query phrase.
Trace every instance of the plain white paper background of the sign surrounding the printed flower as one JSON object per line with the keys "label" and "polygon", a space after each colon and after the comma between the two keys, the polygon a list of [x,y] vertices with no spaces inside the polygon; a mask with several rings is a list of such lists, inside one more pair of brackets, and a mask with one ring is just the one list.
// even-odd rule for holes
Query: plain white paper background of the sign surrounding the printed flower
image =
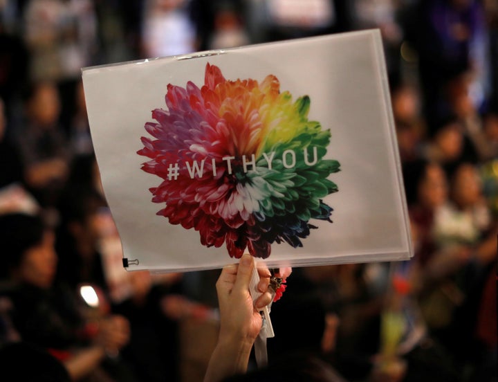
{"label": "plain white paper background of the sign surrounding the printed flower", "polygon": [[[309,97],[308,120],[320,122],[321,129],[331,133],[323,159],[340,163],[340,172],[327,177],[338,192],[322,201],[333,208],[333,223],[310,219],[317,229],[300,239],[302,247],[273,242],[269,265],[412,256],[382,42],[378,30],[367,30],[84,69],[104,192],[124,257],[138,260],[129,269],[189,271],[238,261],[228,255],[225,244],[208,248],[194,228],[169,224],[156,215],[166,203],[153,203],[149,188],[163,179],[141,170],[149,158],[137,154],[144,147],[141,137],[154,140],[145,124],[157,122],[151,117],[154,109],[167,110],[167,85],[185,89],[192,82],[203,87],[208,64],[219,68],[227,81],[252,79],[261,84],[274,75],[279,91],[288,91],[293,102]],[[287,159],[291,162],[292,155]]]}

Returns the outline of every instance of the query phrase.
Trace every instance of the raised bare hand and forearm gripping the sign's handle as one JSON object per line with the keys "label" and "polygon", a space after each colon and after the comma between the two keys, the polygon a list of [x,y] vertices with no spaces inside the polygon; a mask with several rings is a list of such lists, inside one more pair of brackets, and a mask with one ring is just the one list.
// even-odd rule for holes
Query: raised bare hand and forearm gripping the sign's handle
{"label": "raised bare hand and forearm gripping the sign's handle", "polygon": [[225,266],[216,282],[220,333],[204,382],[221,381],[247,370],[252,345],[261,329],[259,309],[269,304],[272,298],[268,292],[270,272],[261,268],[258,289],[262,294],[252,302],[249,281],[254,267],[252,257],[243,255],[238,265]]}

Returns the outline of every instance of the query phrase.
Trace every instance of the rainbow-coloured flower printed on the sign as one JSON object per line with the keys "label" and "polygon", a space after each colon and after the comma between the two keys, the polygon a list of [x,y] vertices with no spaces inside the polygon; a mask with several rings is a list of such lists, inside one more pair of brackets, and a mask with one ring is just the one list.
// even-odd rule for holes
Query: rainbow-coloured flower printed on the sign
{"label": "rainbow-coloured flower printed on the sign", "polygon": [[207,64],[201,88],[167,85],[167,109],[154,109],[137,154],[161,183],[150,189],[170,224],[199,232],[204,246],[270,255],[271,244],[303,246],[311,219],[331,222],[322,200],[338,191],[324,159],[329,130],[308,120],[311,100],[293,100],[279,80],[226,80]]}

